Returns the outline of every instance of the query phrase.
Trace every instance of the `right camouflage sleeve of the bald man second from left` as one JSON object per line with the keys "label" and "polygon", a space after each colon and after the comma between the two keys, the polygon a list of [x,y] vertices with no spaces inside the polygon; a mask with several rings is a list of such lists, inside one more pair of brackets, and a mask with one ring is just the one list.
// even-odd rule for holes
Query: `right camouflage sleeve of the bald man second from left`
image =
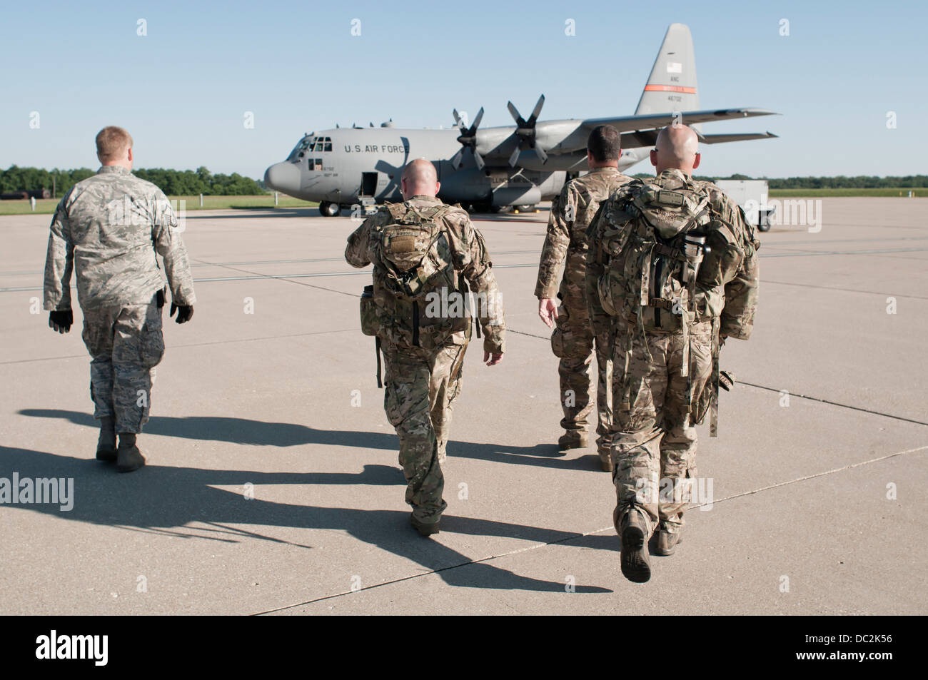
{"label": "right camouflage sleeve of the bald man second from left", "polygon": [[464,275],[474,293],[474,314],[483,331],[483,352],[506,352],[506,314],[503,299],[493,275],[493,262],[483,235],[470,224],[467,212],[445,216],[455,269]]}

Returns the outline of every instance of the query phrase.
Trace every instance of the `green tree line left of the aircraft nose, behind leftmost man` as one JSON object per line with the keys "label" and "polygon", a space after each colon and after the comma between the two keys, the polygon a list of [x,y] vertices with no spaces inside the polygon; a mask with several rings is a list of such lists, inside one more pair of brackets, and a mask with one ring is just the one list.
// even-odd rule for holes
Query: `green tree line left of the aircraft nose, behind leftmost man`
{"label": "green tree line left of the aircraft nose, behind leftmost man", "polygon": [[[251,177],[238,173],[213,174],[202,166],[197,170],[139,168],[132,172],[136,177],[158,186],[168,196],[254,196],[264,193],[264,189]],[[54,182],[55,196],[61,198],[71,186],[96,173],[90,168],[44,170],[11,165],[0,170],[0,194],[41,189],[51,191]]]}

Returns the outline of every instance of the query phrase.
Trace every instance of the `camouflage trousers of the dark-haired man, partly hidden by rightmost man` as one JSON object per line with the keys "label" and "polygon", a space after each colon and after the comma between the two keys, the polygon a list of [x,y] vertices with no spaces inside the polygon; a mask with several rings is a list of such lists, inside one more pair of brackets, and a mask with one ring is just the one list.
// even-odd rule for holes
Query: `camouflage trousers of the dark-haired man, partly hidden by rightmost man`
{"label": "camouflage trousers of the dark-haired man, partly hidden by rightmost man", "polygon": [[568,431],[586,432],[593,410],[590,374],[595,354],[597,447],[603,457],[609,455],[612,430],[612,350],[609,345],[610,329],[594,329],[586,301],[565,298],[558,310],[557,327],[551,335],[551,349],[561,359],[558,365],[564,412],[561,427]]}

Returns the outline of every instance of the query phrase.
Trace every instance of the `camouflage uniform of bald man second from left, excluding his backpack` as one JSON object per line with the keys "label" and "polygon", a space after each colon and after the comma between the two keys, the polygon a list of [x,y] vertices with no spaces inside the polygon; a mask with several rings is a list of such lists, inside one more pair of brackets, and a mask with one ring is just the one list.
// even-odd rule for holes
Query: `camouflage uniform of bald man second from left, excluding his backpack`
{"label": "camouflage uniform of bald man second from left, excluding his backpack", "polygon": [[[441,200],[414,196],[407,204],[416,209],[442,205]],[[386,208],[370,216],[348,237],[345,260],[354,267],[374,263],[374,297],[387,294],[384,269],[372,248],[372,230],[393,222]],[[450,262],[463,275],[470,289],[492,301],[478,304],[477,315],[483,328],[483,350],[503,353],[505,323],[499,300],[493,264],[483,236],[467,212],[458,207],[442,215],[446,227]],[[421,318],[415,340],[407,328],[393,319],[384,321],[378,332],[384,363],[384,409],[400,440],[399,462],[406,476],[406,503],[414,517],[425,523],[437,521],[447,505],[442,498],[445,479],[442,462],[448,441],[451,410],[460,391],[461,366],[470,341],[470,313],[458,326],[439,329]]]}

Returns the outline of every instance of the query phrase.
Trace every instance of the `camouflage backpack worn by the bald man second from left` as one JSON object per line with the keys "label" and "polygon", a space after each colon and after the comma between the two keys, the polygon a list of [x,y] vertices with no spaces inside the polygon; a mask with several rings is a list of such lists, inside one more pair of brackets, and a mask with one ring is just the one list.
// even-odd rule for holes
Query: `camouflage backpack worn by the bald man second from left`
{"label": "camouflage backpack worn by the bald man second from left", "polygon": [[444,220],[454,206],[388,204],[391,222],[374,227],[374,284],[361,300],[367,335],[433,349],[470,331],[467,284],[454,263]]}

